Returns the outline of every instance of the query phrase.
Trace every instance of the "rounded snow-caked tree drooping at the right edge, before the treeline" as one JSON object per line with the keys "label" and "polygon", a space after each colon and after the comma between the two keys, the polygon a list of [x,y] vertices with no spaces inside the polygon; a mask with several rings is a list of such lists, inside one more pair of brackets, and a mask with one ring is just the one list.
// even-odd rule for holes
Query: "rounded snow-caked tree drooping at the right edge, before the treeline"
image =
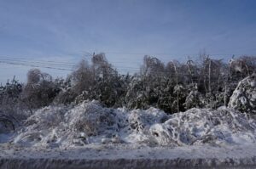
{"label": "rounded snow-caked tree drooping at the right edge, before the treeline", "polygon": [[247,76],[230,97],[230,108],[256,114],[256,75]]}

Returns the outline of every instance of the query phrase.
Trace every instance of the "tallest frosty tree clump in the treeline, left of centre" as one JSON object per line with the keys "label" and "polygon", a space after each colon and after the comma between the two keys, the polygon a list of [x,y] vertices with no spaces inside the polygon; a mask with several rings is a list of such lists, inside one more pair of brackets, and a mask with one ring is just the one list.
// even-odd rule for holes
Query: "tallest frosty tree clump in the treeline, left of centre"
{"label": "tallest frosty tree clump in the treeline, left of centre", "polygon": [[[127,79],[108,63],[105,54],[95,54],[90,64],[82,60],[68,79],[72,85],[68,91],[60,93],[65,98],[63,102],[72,100],[80,104],[84,100],[96,99],[108,107],[124,104]],[[57,98],[61,100],[61,96]]]}

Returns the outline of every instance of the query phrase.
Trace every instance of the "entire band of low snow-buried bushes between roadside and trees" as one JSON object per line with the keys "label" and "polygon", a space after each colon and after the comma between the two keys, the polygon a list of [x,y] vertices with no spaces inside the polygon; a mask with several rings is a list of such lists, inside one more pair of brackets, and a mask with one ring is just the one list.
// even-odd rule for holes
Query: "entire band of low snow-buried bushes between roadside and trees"
{"label": "entire band of low snow-buried bushes between roadside and trees", "polygon": [[256,140],[255,129],[256,121],[228,108],[166,115],[154,108],[103,108],[92,101],[36,111],[13,142],[63,148],[85,144],[251,144]]}

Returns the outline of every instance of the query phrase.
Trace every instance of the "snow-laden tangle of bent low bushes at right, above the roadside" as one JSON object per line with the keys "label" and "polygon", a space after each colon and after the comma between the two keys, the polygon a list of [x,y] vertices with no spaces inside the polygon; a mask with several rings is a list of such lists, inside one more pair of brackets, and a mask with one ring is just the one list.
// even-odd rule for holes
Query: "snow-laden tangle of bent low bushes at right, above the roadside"
{"label": "snow-laden tangle of bent low bushes at right, above the roadside", "polygon": [[191,109],[150,127],[160,145],[254,143],[256,121],[234,110]]}

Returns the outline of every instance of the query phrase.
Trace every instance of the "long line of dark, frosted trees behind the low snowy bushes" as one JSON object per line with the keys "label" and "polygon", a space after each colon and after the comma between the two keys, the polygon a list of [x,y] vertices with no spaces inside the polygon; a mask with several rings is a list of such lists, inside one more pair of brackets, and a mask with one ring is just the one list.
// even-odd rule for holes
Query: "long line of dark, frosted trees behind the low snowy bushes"
{"label": "long line of dark, frosted trees behind the low snowy bushes", "polygon": [[140,72],[121,75],[104,54],[82,60],[66,79],[53,79],[38,69],[29,70],[27,82],[15,78],[0,87],[0,111],[30,112],[49,104],[79,104],[96,99],[108,107],[147,109],[168,113],[192,107],[227,105],[236,85],[256,70],[256,57],[232,58],[229,63],[201,54],[185,63],[145,56]]}

